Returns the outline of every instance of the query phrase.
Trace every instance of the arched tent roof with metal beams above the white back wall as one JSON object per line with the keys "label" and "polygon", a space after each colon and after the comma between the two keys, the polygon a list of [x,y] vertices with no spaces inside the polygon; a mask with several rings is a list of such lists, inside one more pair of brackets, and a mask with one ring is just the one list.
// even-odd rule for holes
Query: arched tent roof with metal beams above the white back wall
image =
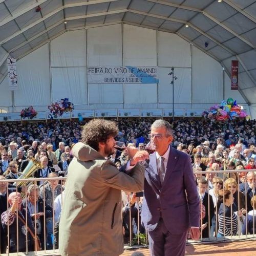
{"label": "arched tent roof with metal beams above the white back wall", "polygon": [[240,93],[255,103],[255,0],[0,0],[0,81],[9,54],[19,59],[66,31],[121,22],[176,33],[228,74],[239,60]]}

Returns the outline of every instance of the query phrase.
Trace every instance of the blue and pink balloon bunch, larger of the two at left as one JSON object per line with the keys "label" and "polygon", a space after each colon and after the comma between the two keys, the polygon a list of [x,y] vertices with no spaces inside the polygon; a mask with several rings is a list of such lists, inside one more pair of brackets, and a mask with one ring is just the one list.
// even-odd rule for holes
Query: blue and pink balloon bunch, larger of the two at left
{"label": "blue and pink balloon bunch, larger of the two at left", "polygon": [[74,110],[74,104],[71,103],[68,98],[64,98],[49,105],[48,109],[51,112],[49,117],[52,119],[53,117],[57,118],[62,116],[64,112],[72,112]]}

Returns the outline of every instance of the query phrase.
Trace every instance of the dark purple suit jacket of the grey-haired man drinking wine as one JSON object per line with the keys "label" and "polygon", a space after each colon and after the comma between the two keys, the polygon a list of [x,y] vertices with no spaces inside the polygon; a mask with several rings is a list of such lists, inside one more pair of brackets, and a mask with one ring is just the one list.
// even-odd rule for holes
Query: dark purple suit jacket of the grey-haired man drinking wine
{"label": "dark purple suit jacket of the grey-haired man drinking wine", "polygon": [[166,228],[173,234],[189,226],[199,227],[200,208],[190,157],[170,147],[162,186],[157,172],[156,153],[150,155],[145,170],[142,223],[152,231],[162,215]]}

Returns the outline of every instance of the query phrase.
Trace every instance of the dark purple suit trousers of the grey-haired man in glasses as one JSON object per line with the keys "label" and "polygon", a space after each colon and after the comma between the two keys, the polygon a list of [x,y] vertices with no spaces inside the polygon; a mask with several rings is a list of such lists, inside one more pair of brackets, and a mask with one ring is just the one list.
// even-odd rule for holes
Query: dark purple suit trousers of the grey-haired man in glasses
{"label": "dark purple suit trousers of the grey-haired man in glasses", "polygon": [[157,227],[148,232],[150,253],[152,256],[184,256],[187,231],[171,234],[160,218]]}

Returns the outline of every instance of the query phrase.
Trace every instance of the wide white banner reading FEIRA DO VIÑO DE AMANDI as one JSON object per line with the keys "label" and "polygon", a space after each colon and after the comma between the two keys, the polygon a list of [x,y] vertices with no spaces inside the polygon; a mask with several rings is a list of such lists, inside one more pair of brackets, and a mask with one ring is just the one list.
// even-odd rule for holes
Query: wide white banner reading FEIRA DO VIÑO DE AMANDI
{"label": "wide white banner reading FEIRA DO VI\u00d1O DE AMANDI", "polygon": [[87,67],[88,83],[158,83],[157,67]]}

